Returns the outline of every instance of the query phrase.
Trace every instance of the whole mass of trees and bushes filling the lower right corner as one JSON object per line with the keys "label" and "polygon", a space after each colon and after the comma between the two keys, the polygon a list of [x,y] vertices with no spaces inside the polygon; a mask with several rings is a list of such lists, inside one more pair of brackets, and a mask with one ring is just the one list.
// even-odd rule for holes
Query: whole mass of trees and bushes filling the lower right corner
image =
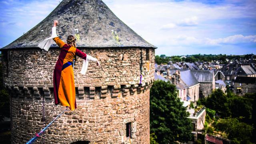
{"label": "whole mass of trees and bushes filling the lower right corner", "polygon": [[[201,102],[204,100],[201,100]],[[255,94],[245,94],[244,97],[236,96],[232,91],[227,89],[227,94],[217,89],[206,98],[206,121],[208,116],[212,118],[216,110],[215,120],[212,126],[216,130],[220,130],[227,134],[227,138],[232,140],[234,144],[247,144],[250,143],[252,136],[255,108]],[[253,105],[254,104],[254,105]],[[210,109],[208,109],[210,108]],[[253,111],[254,110],[254,111]],[[217,122],[218,117],[226,118]],[[249,125],[251,124],[251,125]],[[207,132],[209,128],[206,127]]]}

